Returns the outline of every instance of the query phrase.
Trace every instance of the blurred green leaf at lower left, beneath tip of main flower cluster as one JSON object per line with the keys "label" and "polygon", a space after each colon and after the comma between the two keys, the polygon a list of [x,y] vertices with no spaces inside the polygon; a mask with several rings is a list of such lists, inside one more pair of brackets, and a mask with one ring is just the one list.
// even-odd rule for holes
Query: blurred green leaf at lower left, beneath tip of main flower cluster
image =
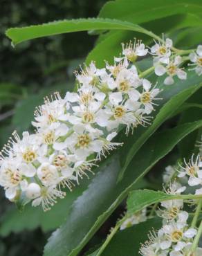
{"label": "blurred green leaf at lower left, beneath tip of main flower cluster", "polygon": [[73,192],[68,191],[66,197],[59,200],[48,212],[30,204],[26,205],[23,212],[19,212],[15,207],[8,208],[8,211],[1,215],[0,235],[6,237],[10,232],[18,233],[22,230],[33,230],[38,227],[42,228],[44,232],[58,228],[64,223],[75,196],[82,194],[84,186],[86,186],[86,180],[83,180]]}

